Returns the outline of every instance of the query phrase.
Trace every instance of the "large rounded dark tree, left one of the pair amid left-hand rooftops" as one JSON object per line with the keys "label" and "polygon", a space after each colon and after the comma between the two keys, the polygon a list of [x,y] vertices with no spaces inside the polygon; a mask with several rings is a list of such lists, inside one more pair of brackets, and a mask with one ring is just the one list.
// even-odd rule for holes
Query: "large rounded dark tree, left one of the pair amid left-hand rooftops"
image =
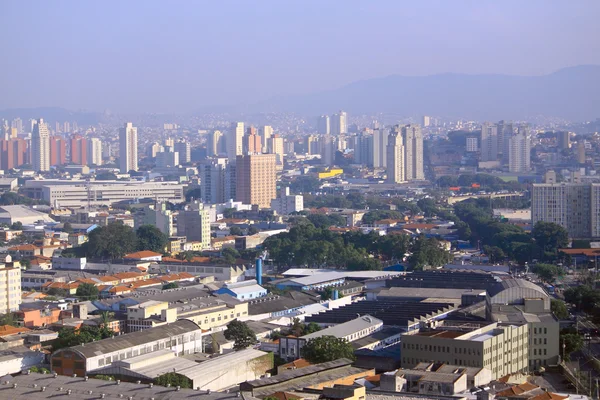
{"label": "large rounded dark tree, left one of the pair amid left-hand rooftops", "polygon": [[112,223],[91,231],[85,249],[90,258],[114,260],[136,251],[137,238],[129,226]]}

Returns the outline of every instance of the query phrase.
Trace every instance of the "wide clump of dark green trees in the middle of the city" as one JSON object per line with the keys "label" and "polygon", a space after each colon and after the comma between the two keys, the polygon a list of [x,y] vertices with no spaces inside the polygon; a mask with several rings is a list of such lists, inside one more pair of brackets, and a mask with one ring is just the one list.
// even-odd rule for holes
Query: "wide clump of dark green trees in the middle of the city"
{"label": "wide clump of dark green trees in the middle of the city", "polygon": [[317,228],[309,221],[292,227],[288,233],[268,238],[264,247],[279,266],[306,265],[348,270],[380,270],[381,261],[400,261],[412,253],[413,268],[440,266],[450,261],[450,254],[435,239],[407,235],[339,234]]}

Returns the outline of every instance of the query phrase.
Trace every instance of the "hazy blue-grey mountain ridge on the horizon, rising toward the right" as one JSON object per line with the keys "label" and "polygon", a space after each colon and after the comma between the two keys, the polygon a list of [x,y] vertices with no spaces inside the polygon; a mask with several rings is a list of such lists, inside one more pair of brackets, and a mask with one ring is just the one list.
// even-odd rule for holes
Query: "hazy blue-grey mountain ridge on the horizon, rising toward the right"
{"label": "hazy blue-grey mountain ridge on the horizon, rising toward the right", "polygon": [[600,117],[600,66],[564,68],[544,76],[392,75],[322,93],[278,97],[253,109],[311,115],[343,109],[480,120],[544,115],[585,121]]}

